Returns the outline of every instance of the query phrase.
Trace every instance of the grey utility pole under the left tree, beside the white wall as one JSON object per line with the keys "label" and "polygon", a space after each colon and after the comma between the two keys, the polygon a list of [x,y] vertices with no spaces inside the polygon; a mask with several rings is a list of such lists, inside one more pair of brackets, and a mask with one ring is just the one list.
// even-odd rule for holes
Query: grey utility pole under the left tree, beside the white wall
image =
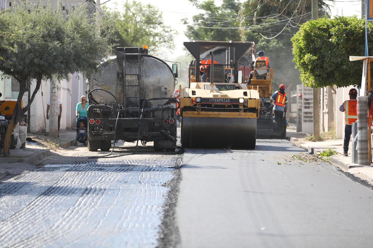
{"label": "grey utility pole under the left tree, beside the white wall", "polygon": [[[58,0],[53,1],[53,8],[58,6]],[[62,14],[62,13],[61,13]],[[50,96],[49,96],[49,137],[58,137],[58,96],[56,89],[56,80],[50,80]]]}

